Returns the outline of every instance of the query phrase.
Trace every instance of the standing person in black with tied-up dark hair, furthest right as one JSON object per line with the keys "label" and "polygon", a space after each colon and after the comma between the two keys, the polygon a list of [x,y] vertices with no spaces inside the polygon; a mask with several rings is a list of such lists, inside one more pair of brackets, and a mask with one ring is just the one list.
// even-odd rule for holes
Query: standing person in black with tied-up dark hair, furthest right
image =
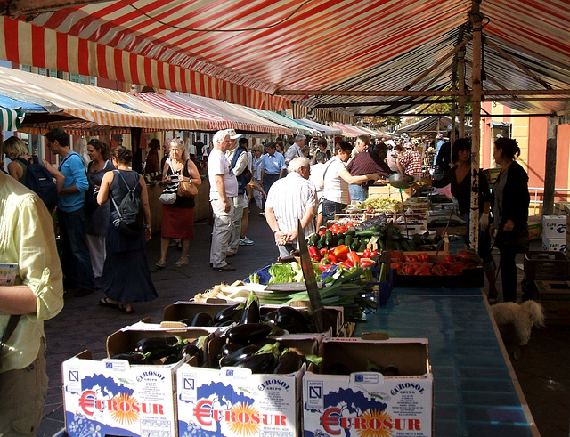
{"label": "standing person in black with tied-up dark hair, furthest right", "polygon": [[528,175],[515,158],[520,155],[517,140],[498,138],[493,158],[501,173],[493,185],[493,231],[500,251],[502,295],[505,302],[517,301],[517,253],[528,250]]}

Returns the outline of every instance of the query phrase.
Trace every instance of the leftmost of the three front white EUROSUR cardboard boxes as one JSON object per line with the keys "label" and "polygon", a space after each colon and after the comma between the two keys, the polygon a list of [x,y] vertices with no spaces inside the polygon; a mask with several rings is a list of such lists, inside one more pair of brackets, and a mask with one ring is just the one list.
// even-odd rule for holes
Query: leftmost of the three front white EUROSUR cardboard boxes
{"label": "leftmost of the three front white EUROSUR cardboard boxes", "polygon": [[92,360],[88,351],[64,361],[66,435],[177,435],[173,393],[182,364]]}

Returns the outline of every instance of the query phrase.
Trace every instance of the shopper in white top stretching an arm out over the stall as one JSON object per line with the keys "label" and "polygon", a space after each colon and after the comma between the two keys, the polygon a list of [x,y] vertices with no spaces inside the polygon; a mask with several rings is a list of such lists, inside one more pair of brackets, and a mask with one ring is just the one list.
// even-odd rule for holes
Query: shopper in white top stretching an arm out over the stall
{"label": "shopper in white top stretching an arm out over the stall", "polygon": [[349,184],[361,184],[377,181],[381,174],[371,173],[353,176],[346,170],[346,161],[351,156],[352,144],[341,141],[337,144],[337,153],[330,159],[324,169],[321,186],[324,188],[322,201],[323,223],[333,220],[335,214],[341,213],[350,203]]}

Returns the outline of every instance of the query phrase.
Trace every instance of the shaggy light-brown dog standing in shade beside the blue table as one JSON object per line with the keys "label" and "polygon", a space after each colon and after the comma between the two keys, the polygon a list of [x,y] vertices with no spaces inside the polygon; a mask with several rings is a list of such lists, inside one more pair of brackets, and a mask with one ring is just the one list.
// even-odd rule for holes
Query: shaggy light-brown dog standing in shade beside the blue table
{"label": "shaggy light-brown dog standing in shade beside the blue table", "polygon": [[520,305],[513,302],[497,303],[491,307],[497,325],[512,324],[517,331],[521,346],[531,338],[531,329],[544,327],[542,305],[535,301],[526,301]]}

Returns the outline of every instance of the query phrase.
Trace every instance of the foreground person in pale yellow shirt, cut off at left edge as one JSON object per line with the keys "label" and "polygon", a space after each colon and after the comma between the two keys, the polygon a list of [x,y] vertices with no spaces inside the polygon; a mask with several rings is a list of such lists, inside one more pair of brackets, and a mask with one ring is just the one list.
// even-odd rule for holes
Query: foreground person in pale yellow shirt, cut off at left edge
{"label": "foreground person in pale yellow shirt, cut off at left edge", "polygon": [[0,435],[36,435],[48,387],[44,321],[63,308],[61,265],[44,202],[4,172],[0,211],[0,263],[16,265],[13,284],[0,279]]}

